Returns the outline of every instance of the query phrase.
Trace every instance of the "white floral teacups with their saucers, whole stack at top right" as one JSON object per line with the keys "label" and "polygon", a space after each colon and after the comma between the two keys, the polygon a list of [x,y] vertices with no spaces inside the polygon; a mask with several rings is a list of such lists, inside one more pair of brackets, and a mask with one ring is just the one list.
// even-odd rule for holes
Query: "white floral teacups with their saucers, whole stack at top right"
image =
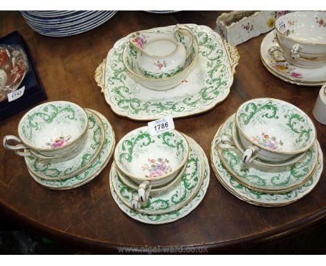
{"label": "white floral teacups with their saucers, whole stack at top right", "polygon": [[299,11],[275,21],[261,43],[261,61],[275,77],[300,86],[326,83],[325,12]]}

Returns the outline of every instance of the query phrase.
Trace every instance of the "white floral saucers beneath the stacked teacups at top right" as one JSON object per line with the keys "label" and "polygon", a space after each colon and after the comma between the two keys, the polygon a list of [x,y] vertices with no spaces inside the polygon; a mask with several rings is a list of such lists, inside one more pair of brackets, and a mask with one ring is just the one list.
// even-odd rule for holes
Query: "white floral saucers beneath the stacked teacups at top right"
{"label": "white floral saucers beneath the stacked teacups at top right", "polygon": [[326,83],[326,65],[321,68],[300,68],[291,63],[276,62],[268,49],[277,45],[275,30],[265,36],[261,42],[261,61],[275,77],[299,86],[321,86]]}

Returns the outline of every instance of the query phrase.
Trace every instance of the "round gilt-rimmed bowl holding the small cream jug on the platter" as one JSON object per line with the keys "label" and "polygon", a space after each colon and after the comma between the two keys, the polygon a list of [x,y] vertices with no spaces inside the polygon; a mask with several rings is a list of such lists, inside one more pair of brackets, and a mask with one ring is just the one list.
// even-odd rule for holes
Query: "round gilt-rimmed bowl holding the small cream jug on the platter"
{"label": "round gilt-rimmed bowl holding the small cream jug on the platter", "polygon": [[[155,32],[155,29],[148,30],[150,33]],[[164,27],[162,28],[162,33],[171,36],[173,33],[173,28]],[[199,57],[199,45],[197,43],[196,37],[193,39],[193,45],[189,56],[185,61],[185,65],[183,70],[180,70],[177,73],[173,73],[173,75],[160,75],[160,78],[151,77],[148,75],[146,77],[143,75],[139,68],[139,62],[137,61],[137,48],[134,45],[125,45],[125,49],[123,50],[123,64],[130,74],[137,79],[137,82],[146,86],[147,88],[151,88],[157,91],[166,91],[170,88],[174,88],[178,86],[183,80],[185,80],[191,70],[196,65],[197,58]],[[157,63],[157,62],[156,62]]]}

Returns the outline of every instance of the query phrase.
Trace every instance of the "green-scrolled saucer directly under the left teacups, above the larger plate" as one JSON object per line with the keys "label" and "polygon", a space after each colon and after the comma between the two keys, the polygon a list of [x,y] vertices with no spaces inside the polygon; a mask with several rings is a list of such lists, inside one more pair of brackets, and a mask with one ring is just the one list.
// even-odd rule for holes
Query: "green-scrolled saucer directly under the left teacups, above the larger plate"
{"label": "green-scrolled saucer directly under the left teacups, above the larger plate", "polygon": [[101,119],[92,111],[87,111],[88,130],[85,142],[70,154],[59,159],[39,159],[26,156],[26,165],[34,175],[45,180],[62,180],[84,171],[100,154],[104,145],[105,132]]}

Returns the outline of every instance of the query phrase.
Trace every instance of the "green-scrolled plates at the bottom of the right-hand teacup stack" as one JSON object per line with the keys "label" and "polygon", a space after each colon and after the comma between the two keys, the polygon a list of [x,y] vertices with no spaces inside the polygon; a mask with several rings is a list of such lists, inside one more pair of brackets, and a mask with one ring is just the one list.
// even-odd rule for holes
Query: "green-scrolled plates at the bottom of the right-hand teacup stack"
{"label": "green-scrolled plates at the bottom of the right-hand teacup stack", "polygon": [[300,200],[300,198],[306,196],[316,187],[320,175],[323,171],[323,151],[320,148],[318,141],[316,141],[318,146],[318,164],[316,171],[313,172],[311,178],[302,187],[294,189],[293,191],[288,191],[285,193],[275,193],[268,194],[263,192],[254,191],[247,187],[244,187],[239,182],[233,178],[233,176],[228,173],[224,168],[221,160],[219,159],[217,143],[215,142],[216,136],[212,141],[211,148],[211,164],[215,175],[223,187],[226,188],[233,196],[239,198],[241,201],[245,201],[252,205],[259,205],[263,207],[279,207],[294,203]]}

